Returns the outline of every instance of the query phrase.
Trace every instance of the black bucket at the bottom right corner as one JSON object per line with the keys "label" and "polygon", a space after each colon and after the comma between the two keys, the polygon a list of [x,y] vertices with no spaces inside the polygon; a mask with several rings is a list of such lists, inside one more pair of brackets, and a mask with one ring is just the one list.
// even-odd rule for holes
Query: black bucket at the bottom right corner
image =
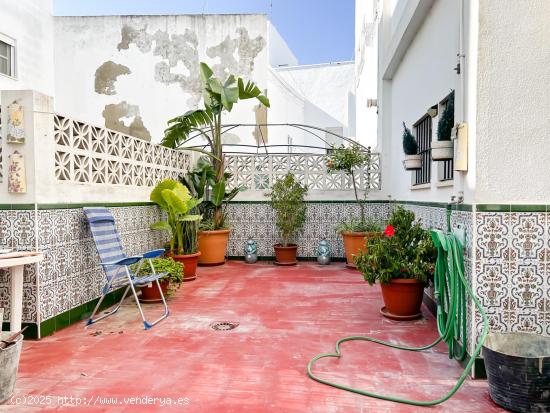
{"label": "black bucket at the bottom right corner", "polygon": [[550,337],[490,333],[483,359],[495,403],[514,412],[550,412]]}

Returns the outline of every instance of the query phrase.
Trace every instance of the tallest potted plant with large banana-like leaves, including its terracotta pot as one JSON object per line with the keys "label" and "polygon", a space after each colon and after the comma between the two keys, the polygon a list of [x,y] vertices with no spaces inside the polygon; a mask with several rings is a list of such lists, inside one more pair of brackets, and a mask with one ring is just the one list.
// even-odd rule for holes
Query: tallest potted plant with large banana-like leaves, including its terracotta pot
{"label": "tallest potted plant with large banana-like leaves, including its terracotta pot", "polygon": [[207,185],[211,189],[211,215],[205,216],[208,227],[203,226],[199,233],[199,244],[202,252],[201,264],[217,265],[225,262],[229,228],[224,214],[223,200],[226,194],[225,157],[222,142],[222,114],[231,112],[235,103],[244,99],[257,99],[260,104],[269,107],[269,100],[253,82],[229,75],[225,80],[213,76],[213,71],[206,63],[201,63],[200,78],[202,83],[204,109],[190,110],[181,116],[168,121],[168,129],[162,141],[164,146],[180,148],[190,138],[200,136],[204,146],[186,147],[209,156],[212,163],[212,179]]}

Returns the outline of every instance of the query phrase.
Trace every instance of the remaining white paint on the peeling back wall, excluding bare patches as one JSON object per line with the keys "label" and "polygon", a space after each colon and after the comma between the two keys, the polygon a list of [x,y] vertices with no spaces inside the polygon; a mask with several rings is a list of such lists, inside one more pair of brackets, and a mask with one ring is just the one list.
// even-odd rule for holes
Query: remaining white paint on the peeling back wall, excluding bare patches
{"label": "remaining white paint on the peeling back wall, excluding bare patches", "polygon": [[[154,36],[157,31],[181,36],[186,30],[195,35],[197,45],[187,50],[188,55],[183,59],[189,67],[179,60],[177,66],[171,68],[172,73],[183,76],[196,76],[198,61],[206,61],[210,65],[221,63],[224,67],[231,65],[229,57],[210,57],[207,49],[224,40],[236,40],[239,28],[246,29],[250,39],[261,36],[267,42],[267,20],[264,15],[56,17],[56,110],[73,118],[103,125],[102,112],[105,106],[125,101],[139,107],[140,116],[153,142],[162,138],[168,119],[196,107],[198,99],[192,98],[200,91],[190,90],[189,87],[183,90],[177,83],[166,84],[155,80],[155,66],[169,60],[154,56],[152,51],[141,52],[137,44],[143,39],[131,43],[127,49],[119,50],[117,45],[121,42],[121,31],[125,25],[145,29],[148,36]],[[154,49],[156,45],[158,41],[153,40],[151,47]],[[184,47],[187,46],[189,43]],[[243,50],[248,46],[243,44]],[[195,50],[198,56],[192,55]],[[168,57],[174,59],[178,51],[177,45],[172,42],[167,50]],[[244,50],[243,53],[246,55],[248,51]],[[239,70],[243,72],[240,74],[252,78],[260,88],[265,89],[268,57],[266,45],[254,58],[254,68],[250,73],[250,65],[237,52],[233,54],[236,59],[233,63],[240,63]],[[99,94],[94,88],[96,69],[107,61],[124,65],[131,71],[129,75],[118,77],[115,95]],[[235,106],[225,123],[253,123],[255,104],[248,101]],[[131,119],[128,119],[126,124],[130,122]],[[246,136],[240,138],[243,142],[251,143],[252,132],[248,131]]]}

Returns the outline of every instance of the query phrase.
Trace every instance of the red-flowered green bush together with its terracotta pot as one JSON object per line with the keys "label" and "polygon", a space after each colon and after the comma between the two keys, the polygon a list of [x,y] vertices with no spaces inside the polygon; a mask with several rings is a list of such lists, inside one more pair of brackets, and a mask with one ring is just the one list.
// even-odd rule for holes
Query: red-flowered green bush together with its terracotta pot
{"label": "red-flowered green bush together with its terracotta pot", "polygon": [[428,231],[414,222],[414,213],[398,206],[380,237],[368,240],[368,254],[355,264],[365,280],[380,282],[384,315],[398,319],[420,316],[424,285],[433,274],[436,251]]}

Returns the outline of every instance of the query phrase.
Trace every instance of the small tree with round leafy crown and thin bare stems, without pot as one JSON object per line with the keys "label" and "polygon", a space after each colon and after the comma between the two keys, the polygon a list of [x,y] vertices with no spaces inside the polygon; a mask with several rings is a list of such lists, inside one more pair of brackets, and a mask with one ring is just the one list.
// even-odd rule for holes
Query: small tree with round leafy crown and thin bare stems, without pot
{"label": "small tree with round leafy crown and thin bare stems, without pot", "polygon": [[[359,224],[360,227],[366,226],[364,203],[367,201],[370,188],[369,183],[367,182],[367,187],[365,188],[365,197],[364,199],[360,199],[359,193],[357,191],[357,184],[355,183],[354,170],[370,165],[370,163],[370,147],[368,147],[365,151],[361,146],[357,144],[352,144],[348,147],[342,145],[338,148],[333,146],[330,155],[328,155],[326,159],[327,171],[329,173],[343,171],[351,177],[351,182],[353,183],[353,191],[355,193],[355,202],[357,202],[357,205],[359,205],[359,209],[361,210],[361,220]],[[343,223],[342,225],[346,225],[346,223]]]}

